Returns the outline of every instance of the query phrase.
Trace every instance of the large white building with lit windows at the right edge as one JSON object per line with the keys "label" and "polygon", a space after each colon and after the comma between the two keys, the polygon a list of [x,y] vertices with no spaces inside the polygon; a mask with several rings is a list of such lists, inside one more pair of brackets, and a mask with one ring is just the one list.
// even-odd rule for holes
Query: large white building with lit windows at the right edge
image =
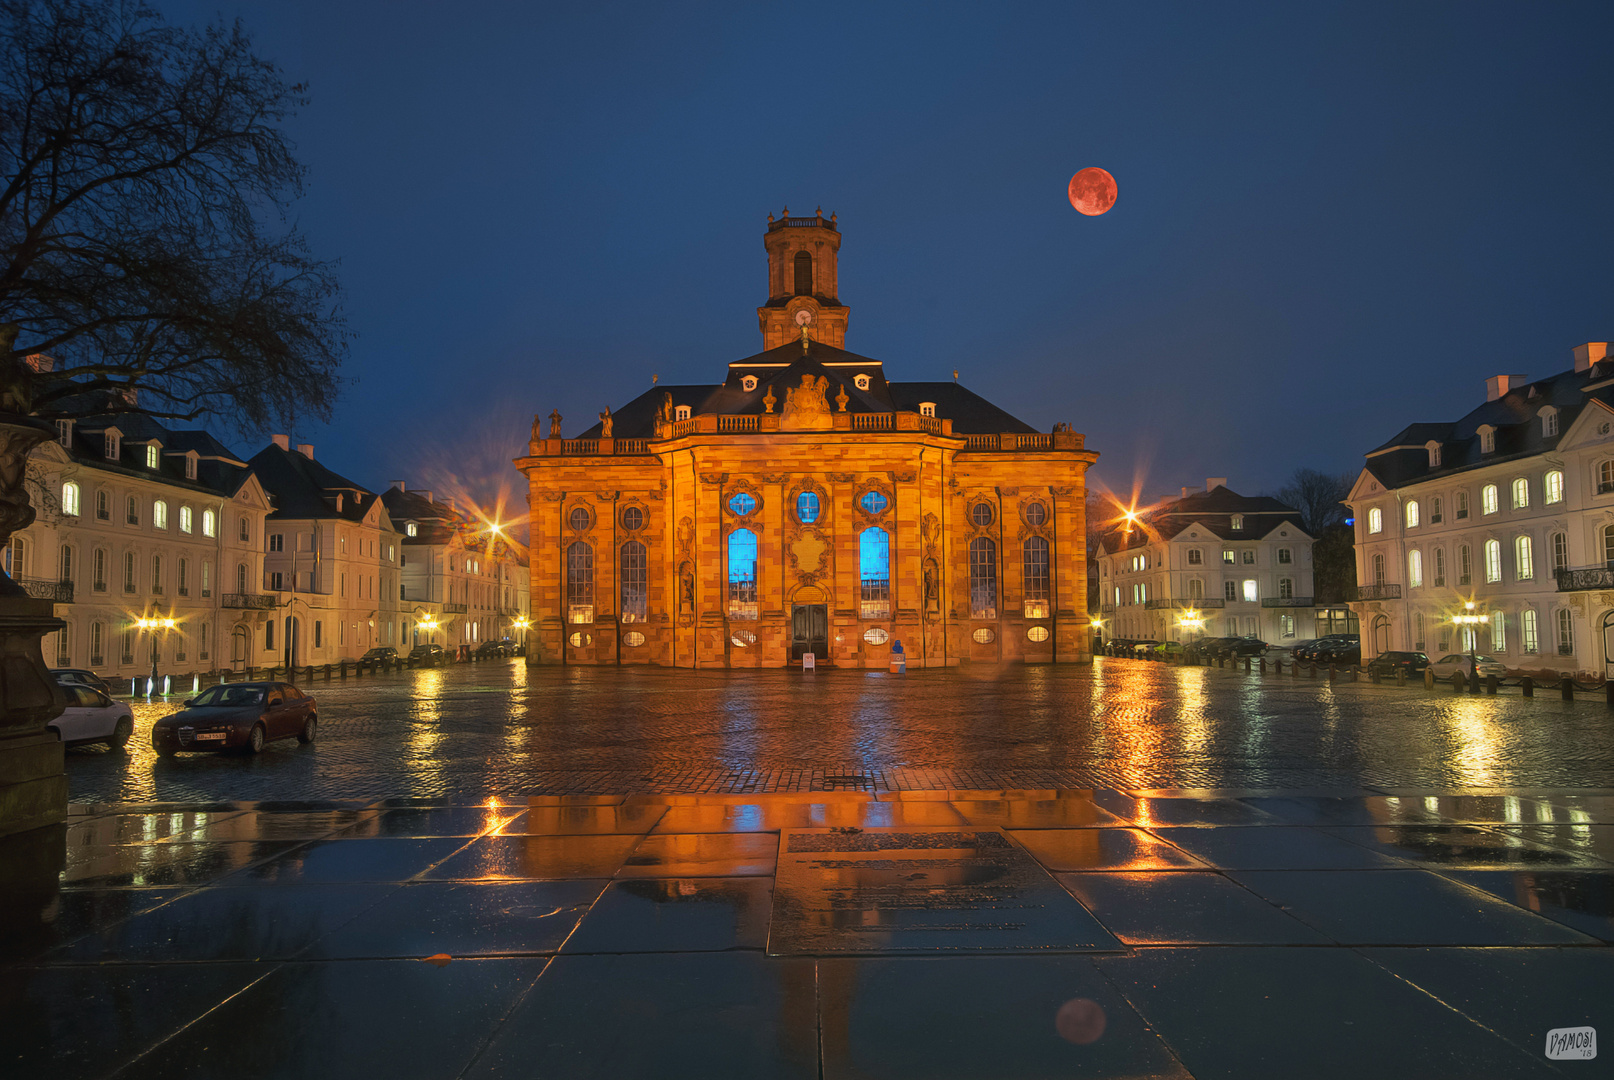
{"label": "large white building with lit windows at the right edge", "polygon": [[1477,647],[1514,668],[1603,673],[1614,622],[1614,358],[1495,376],[1456,423],[1417,423],[1367,455],[1351,491],[1362,654]]}

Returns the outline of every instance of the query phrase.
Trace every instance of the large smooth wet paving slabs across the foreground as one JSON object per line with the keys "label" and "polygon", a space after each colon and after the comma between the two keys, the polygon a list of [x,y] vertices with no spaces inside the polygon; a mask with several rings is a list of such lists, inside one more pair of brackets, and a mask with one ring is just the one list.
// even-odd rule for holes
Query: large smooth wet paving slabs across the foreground
{"label": "large smooth wet paving slabs across the foreground", "polygon": [[[76,804],[71,827],[0,841],[0,1075],[1609,1074],[1548,1062],[1543,1043],[1614,1030],[1614,867],[1466,862],[1520,830],[1591,859],[1538,818],[1595,804],[988,793]],[[994,802],[1054,806],[1010,815],[1030,828],[796,825]],[[579,814],[539,812],[557,806]],[[1057,899],[1039,906],[1046,948],[1006,954],[964,927],[947,935],[980,954],[959,956],[880,930],[904,912],[1002,914],[981,907],[1018,881],[1001,859],[947,896],[965,833],[997,838]],[[896,888],[857,901],[875,860]],[[813,914],[804,890],[855,902]],[[860,954],[833,956],[870,925],[852,931]],[[770,956],[784,938],[792,956]]]}

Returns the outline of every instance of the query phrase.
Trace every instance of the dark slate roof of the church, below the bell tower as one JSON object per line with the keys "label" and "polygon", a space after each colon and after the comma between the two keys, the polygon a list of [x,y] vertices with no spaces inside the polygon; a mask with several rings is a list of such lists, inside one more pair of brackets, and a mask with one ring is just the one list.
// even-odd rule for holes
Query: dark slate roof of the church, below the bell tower
{"label": "dark slate roof of the church, below the bell tower", "polygon": [[[757,376],[757,389],[744,391],[741,379]],[[673,405],[689,405],[691,413],[747,415],[763,413],[763,399],[773,387],[773,412],[784,410],[786,392],[801,386],[802,375],[830,381],[825,397],[830,408],[838,408],[836,396],[846,391],[846,412],[886,413],[918,412],[920,402],[936,402],[936,417],[952,420],[954,434],[1017,433],[1035,434],[1036,428],[1017,420],[980,394],[957,383],[888,383],[880,360],[846,352],[822,342],[809,342],[802,355],[799,341],[759,352],[728,365],[728,378],[712,384],[652,386],[621,408],[612,410],[612,436],[617,439],[649,439],[655,436],[655,413],[665,394],[673,396]],[[867,375],[868,389],[860,391],[854,376]],[[600,425],[584,429],[579,439],[600,437]]]}

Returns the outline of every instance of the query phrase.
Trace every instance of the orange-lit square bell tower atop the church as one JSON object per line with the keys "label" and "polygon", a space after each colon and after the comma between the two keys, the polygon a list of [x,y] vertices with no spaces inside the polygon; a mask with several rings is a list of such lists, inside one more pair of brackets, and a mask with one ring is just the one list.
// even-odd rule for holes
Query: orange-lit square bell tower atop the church
{"label": "orange-lit square bell tower atop the church", "polygon": [[762,245],[768,252],[768,302],[757,308],[762,347],[799,341],[805,324],[813,341],[846,349],[849,308],[836,295],[841,229],[834,215],[823,216],[823,208],[810,218],[792,218],[789,208],[780,218],[770,213]]}

